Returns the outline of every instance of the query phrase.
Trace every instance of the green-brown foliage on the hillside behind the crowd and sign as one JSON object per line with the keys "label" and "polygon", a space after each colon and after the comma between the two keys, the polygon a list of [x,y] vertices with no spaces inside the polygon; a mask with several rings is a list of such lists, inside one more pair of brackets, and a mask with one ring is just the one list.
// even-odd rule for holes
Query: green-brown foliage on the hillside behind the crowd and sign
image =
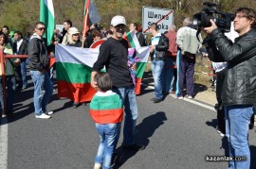
{"label": "green-brown foliage on the hillside behind the crowd and sign", "polygon": [[[56,24],[70,19],[82,30],[82,14],[85,0],[54,0]],[[111,18],[120,14],[127,23],[142,23],[142,7],[174,9],[174,24],[178,27],[185,17],[201,11],[206,0],[94,0],[101,15],[101,24],[108,27]],[[223,11],[235,8],[256,8],[256,0],[209,0],[220,4]],[[32,31],[39,21],[39,0],[0,0],[0,26],[9,25],[11,30]]]}

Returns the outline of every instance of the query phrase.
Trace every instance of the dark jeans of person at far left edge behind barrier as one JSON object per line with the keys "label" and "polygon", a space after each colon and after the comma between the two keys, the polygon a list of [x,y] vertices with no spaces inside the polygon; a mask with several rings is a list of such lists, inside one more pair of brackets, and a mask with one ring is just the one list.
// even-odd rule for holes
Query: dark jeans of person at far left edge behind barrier
{"label": "dark jeans of person at far left edge behind barrier", "polygon": [[[0,102],[2,106],[2,111],[4,114],[12,113],[13,102],[15,97],[16,90],[16,79],[15,76],[6,76],[6,85],[7,85],[7,108],[4,104],[4,92],[3,92],[3,76],[0,76]],[[6,110],[6,112],[4,112]]]}

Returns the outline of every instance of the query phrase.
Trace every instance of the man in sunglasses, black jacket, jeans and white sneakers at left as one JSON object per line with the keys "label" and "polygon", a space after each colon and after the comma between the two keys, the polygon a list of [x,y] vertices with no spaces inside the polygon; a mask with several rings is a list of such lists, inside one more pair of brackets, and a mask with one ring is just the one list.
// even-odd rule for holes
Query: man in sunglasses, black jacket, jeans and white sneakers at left
{"label": "man in sunglasses, black jacket, jeans and white sneakers at left", "polygon": [[49,58],[46,43],[43,40],[46,25],[38,22],[35,25],[34,34],[27,47],[30,75],[34,83],[34,108],[35,117],[40,119],[50,118],[53,111],[46,111],[46,106],[53,92],[50,78],[47,73]]}

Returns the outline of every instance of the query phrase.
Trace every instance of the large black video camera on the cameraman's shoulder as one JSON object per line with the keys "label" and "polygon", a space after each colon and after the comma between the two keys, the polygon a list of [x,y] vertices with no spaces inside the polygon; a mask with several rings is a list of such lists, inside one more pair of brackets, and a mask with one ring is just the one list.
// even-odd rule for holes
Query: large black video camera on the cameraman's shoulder
{"label": "large black video camera on the cameraman's shoulder", "polygon": [[196,13],[192,18],[192,25],[198,27],[209,27],[210,19],[215,22],[223,32],[229,32],[231,22],[234,20],[234,14],[218,10],[218,5],[212,2],[204,2],[205,6],[200,13]]}

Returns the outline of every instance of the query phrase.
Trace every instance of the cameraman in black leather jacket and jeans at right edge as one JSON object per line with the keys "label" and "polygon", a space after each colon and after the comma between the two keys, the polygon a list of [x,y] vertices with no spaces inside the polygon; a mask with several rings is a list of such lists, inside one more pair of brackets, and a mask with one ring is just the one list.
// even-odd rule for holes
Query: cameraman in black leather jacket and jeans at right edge
{"label": "cameraman in black leather jacket and jeans at right edge", "polygon": [[239,37],[234,43],[229,41],[212,20],[211,26],[204,28],[211,34],[223,59],[228,62],[222,103],[225,106],[229,156],[247,157],[247,161],[229,161],[229,168],[248,169],[250,165],[248,125],[256,102],[255,19],[256,12],[252,8],[238,8],[235,11],[234,29]]}

